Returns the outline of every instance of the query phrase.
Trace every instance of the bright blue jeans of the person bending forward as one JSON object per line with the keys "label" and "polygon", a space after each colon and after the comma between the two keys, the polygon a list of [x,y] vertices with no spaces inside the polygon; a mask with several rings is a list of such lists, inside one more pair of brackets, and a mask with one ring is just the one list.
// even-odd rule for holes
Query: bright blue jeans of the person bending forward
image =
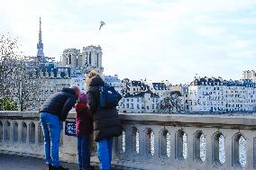
{"label": "bright blue jeans of the person bending forward", "polygon": [[59,167],[59,138],[62,122],[59,117],[48,112],[40,114],[41,128],[44,135],[46,164]]}

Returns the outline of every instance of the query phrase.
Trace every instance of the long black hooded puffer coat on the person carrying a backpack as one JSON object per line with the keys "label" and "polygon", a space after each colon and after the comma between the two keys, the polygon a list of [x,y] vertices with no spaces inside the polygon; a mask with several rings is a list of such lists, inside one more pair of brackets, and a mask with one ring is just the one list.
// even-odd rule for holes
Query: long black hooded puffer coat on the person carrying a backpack
{"label": "long black hooded puffer coat on the person carrying a backpack", "polygon": [[93,76],[87,88],[89,110],[94,115],[95,140],[118,137],[122,134],[118,112],[116,108],[102,108],[99,106],[99,86],[104,85],[100,76]]}

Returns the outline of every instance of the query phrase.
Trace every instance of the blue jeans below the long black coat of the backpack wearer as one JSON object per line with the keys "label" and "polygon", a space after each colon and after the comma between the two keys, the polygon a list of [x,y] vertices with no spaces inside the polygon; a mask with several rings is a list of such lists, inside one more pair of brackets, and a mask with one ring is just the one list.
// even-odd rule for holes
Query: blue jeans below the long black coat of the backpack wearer
{"label": "blue jeans below the long black coat of the backpack wearer", "polygon": [[101,170],[111,169],[113,138],[101,139],[97,142],[97,154]]}

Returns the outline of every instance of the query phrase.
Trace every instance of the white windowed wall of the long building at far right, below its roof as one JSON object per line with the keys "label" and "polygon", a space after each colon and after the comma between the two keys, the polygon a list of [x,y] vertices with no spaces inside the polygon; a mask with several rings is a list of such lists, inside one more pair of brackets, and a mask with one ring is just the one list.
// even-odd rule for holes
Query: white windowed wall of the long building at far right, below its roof
{"label": "white windowed wall of the long building at far right, below its roof", "polygon": [[189,112],[252,112],[255,88],[225,85],[189,85]]}

